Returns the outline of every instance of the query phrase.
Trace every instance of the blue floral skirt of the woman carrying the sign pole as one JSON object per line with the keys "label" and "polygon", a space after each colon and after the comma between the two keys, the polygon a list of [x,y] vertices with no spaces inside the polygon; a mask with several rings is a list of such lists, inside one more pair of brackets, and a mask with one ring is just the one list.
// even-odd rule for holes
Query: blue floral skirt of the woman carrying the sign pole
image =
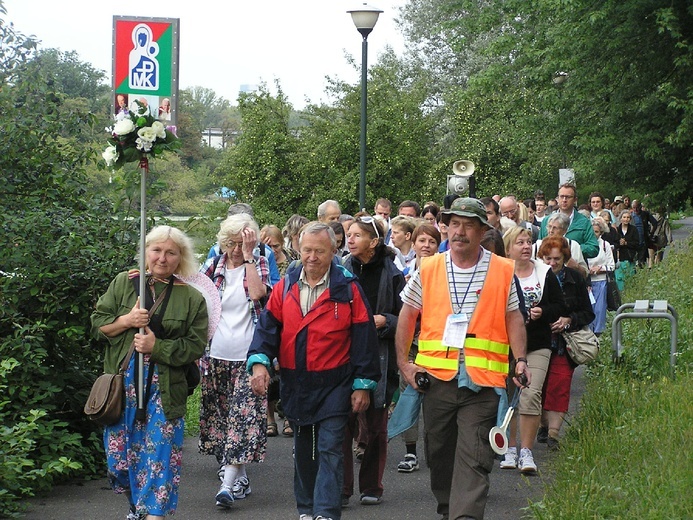
{"label": "blue floral skirt of the woman carrying the sign pole", "polygon": [[[137,421],[135,359],[125,372],[125,413],[104,430],[108,479],[116,493],[129,493],[141,516],[173,514],[178,505],[178,485],[183,456],[183,418],[167,421],[161,406],[156,364],[147,402],[146,421]],[[145,386],[151,365],[145,356]]]}

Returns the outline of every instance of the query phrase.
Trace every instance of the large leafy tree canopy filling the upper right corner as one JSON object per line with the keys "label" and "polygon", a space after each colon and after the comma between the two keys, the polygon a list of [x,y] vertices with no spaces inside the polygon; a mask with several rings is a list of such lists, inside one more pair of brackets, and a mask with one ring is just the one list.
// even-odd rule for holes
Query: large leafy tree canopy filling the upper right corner
{"label": "large leafy tree canopy filling the upper right corner", "polygon": [[[430,51],[460,148],[479,158],[480,178],[493,172],[489,187],[553,184],[568,165],[581,185],[690,200],[686,2],[412,0],[403,13]],[[451,83],[436,45],[457,57]]]}

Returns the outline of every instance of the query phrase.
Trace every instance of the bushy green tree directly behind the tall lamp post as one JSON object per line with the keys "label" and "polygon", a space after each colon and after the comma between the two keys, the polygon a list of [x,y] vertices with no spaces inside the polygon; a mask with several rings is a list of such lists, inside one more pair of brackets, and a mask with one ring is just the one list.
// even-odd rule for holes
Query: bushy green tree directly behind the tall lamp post
{"label": "bushy green tree directly behind the tall lamp post", "polygon": [[[389,50],[368,79],[367,207],[378,197],[393,201],[440,198],[445,175],[434,166],[433,113],[426,110],[427,76]],[[332,80],[335,102],[311,105],[300,131],[301,170],[311,179],[311,211],[336,198],[345,212],[358,208],[360,84]]]}

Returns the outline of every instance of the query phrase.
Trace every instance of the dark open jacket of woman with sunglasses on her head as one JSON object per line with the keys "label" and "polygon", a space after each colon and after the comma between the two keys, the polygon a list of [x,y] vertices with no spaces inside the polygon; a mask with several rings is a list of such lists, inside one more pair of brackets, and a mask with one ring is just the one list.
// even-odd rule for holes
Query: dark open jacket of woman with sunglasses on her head
{"label": "dark open jacket of woman with sunglasses on her head", "polygon": [[[344,267],[357,276],[367,297],[371,294],[374,296],[368,297],[368,303],[373,309],[373,314],[382,314],[386,320],[385,326],[377,329],[378,357],[382,376],[373,396],[376,408],[388,406],[399,386],[395,332],[399,311],[402,309],[402,300],[399,294],[404,289],[405,281],[404,275],[397,269],[393,261],[394,256],[391,249],[380,245],[376,249],[375,256],[367,264],[362,264],[358,258],[352,255],[344,259]],[[366,283],[375,280],[377,280],[377,285],[365,286]]]}

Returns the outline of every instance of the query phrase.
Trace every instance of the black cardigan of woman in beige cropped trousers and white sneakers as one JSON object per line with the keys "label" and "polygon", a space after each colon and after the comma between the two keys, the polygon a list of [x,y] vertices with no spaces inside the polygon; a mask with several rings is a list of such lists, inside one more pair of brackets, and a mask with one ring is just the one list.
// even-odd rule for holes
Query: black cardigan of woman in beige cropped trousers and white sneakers
{"label": "black cardigan of woman in beige cropped trousers and white sneakers", "polygon": [[[541,308],[541,318],[527,322],[527,351],[551,348],[551,324],[568,312],[561,286],[556,275],[548,265],[533,260],[537,273],[544,273],[541,299],[537,307]],[[541,279],[541,276],[540,276]]]}

